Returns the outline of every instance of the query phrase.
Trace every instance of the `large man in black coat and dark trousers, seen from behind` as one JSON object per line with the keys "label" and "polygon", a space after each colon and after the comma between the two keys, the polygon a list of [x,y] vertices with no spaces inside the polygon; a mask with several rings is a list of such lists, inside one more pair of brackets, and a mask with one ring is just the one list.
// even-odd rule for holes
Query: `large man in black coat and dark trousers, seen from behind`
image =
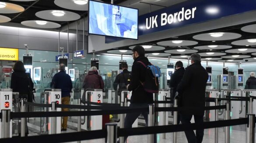
{"label": "large man in black coat and dark trousers, seen from behind", "polygon": [[[205,107],[205,88],[208,79],[207,71],[201,65],[201,56],[197,53],[191,55],[191,65],[186,68],[181,82],[177,87],[177,91],[182,93],[182,107],[198,107],[196,113],[182,112],[182,124],[190,124],[192,116],[195,123],[203,123],[203,115]],[[202,143],[203,129],[196,130],[196,135],[193,130],[185,131],[189,143]]]}

